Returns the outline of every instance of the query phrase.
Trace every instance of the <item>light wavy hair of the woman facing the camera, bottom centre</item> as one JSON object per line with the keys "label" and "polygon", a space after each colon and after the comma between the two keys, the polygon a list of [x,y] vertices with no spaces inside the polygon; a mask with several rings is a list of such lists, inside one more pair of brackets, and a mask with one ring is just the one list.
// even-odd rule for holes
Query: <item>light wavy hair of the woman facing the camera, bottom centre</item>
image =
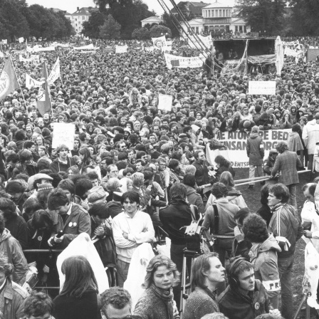
{"label": "light wavy hair of the woman facing the camera, bottom centre", "polygon": [[150,263],[146,268],[146,276],[145,281],[142,284],[142,288],[150,288],[152,283],[154,283],[154,273],[160,266],[165,266],[168,270],[174,273],[173,286],[177,286],[177,284],[179,283],[180,274],[179,271],[177,271],[175,263],[165,255],[157,255],[150,260]]}

